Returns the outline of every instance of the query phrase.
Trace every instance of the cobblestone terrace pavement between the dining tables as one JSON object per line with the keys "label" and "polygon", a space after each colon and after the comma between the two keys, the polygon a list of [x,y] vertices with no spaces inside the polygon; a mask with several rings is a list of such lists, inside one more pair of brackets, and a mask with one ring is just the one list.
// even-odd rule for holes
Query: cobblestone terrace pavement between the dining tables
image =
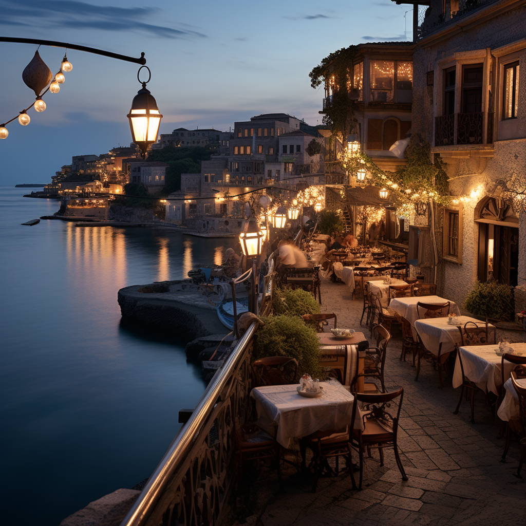
{"label": "cobblestone terrace pavement between the dining tables", "polygon": [[[336,312],[338,326],[360,329],[362,300],[353,300],[345,285],[324,280],[322,312]],[[497,338],[524,340],[523,333]],[[418,382],[411,361],[399,360],[401,341],[389,342],[386,360],[386,388],[404,388],[399,429],[399,449],[409,480],[403,482],[392,449],[385,450],[385,465],[378,453],[365,457],[363,489],[351,489],[347,472],[322,477],[316,493],[311,492],[310,474],[301,474],[284,464],[284,489],[278,492],[276,470],[264,468],[254,474],[248,496],[238,499],[243,523],[256,526],[319,524],[328,526],[398,526],[426,524],[440,526],[507,526],[526,524],[526,472],[514,476],[519,462],[519,444],[513,440],[505,463],[500,462],[504,440],[498,438],[500,424],[486,406],[481,391],[476,393],[475,419],[470,422],[469,402],[463,401],[453,414],[458,391],[451,377],[438,388],[438,373],[423,362]],[[409,354],[408,354],[409,357]],[[287,452],[288,460],[296,461]],[[353,457],[356,462],[358,456]],[[240,521],[241,523],[241,521]]]}

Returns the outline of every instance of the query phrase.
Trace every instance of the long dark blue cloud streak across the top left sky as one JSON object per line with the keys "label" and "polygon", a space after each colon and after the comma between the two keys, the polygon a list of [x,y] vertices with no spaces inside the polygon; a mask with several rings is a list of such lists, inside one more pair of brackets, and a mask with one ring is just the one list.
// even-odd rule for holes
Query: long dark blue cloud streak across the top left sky
{"label": "long dark blue cloud streak across the top left sky", "polygon": [[135,31],[163,38],[206,38],[207,35],[190,29],[187,24],[166,27],[148,24],[146,19],[159,14],[156,7],[100,6],[75,0],[46,2],[0,0],[0,25],[47,28],[99,29],[101,31]]}

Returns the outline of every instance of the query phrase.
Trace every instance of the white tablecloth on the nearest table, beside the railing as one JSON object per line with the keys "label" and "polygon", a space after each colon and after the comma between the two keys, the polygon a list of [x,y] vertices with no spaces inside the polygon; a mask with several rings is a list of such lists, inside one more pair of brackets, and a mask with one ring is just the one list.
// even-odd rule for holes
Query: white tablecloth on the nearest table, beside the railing
{"label": "white tablecloth on the nearest table, beside the railing", "polygon": [[[323,395],[305,398],[298,395],[299,384],[255,387],[250,396],[256,399],[258,425],[281,446],[288,448],[293,438],[306,437],[316,431],[345,429],[350,424],[354,397],[339,382],[320,382]],[[363,429],[361,418],[355,429]]]}

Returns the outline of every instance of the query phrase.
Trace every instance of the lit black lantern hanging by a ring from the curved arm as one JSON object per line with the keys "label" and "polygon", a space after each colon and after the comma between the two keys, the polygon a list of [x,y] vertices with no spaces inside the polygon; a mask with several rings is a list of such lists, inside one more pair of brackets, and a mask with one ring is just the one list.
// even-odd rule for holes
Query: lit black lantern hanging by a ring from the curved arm
{"label": "lit black lantern hanging by a ring from the curved arm", "polygon": [[146,156],[148,147],[155,143],[157,139],[157,131],[161,118],[155,98],[146,89],[146,84],[150,82],[151,72],[148,66],[141,66],[137,72],[137,80],[140,82],[140,70],[145,67],[148,70],[148,80],[143,82],[143,87],[139,89],[131,102],[130,113],[127,115],[130,122],[131,137],[134,143],[143,152],[143,158]]}

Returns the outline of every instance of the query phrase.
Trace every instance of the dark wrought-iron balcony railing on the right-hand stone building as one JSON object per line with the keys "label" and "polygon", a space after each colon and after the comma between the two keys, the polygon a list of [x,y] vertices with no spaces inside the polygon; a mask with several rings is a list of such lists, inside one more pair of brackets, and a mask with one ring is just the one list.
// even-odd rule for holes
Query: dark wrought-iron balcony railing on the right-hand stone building
{"label": "dark wrought-iron balcony railing on the right-hand stone building", "polygon": [[491,144],[493,142],[493,114],[488,113],[484,141],[484,113],[456,113],[436,117],[435,146]]}

